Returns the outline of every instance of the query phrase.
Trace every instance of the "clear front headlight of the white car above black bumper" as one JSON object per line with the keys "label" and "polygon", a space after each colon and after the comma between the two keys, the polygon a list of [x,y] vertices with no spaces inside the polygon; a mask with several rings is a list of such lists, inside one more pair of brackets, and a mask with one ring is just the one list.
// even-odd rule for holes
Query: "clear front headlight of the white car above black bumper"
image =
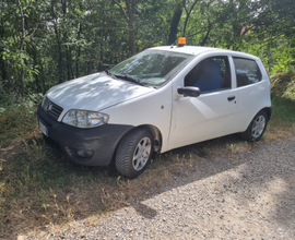
{"label": "clear front headlight of the white car above black bumper", "polygon": [[62,122],[78,128],[94,128],[106,124],[108,115],[97,111],[69,110],[62,119]]}

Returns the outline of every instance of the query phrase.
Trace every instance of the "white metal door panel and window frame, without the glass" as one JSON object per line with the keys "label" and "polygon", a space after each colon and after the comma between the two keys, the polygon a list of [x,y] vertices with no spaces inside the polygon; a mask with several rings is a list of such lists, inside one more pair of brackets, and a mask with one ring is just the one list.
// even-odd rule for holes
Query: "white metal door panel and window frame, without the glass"
{"label": "white metal door panel and window frame, without the glass", "polygon": [[[185,97],[177,94],[177,88],[184,86],[185,76],[202,60],[209,57],[227,57],[220,50],[199,55],[181,75],[174,81],[173,89],[173,117],[169,135],[169,148],[185,146],[196,142],[217,137],[229,132],[234,113],[237,110],[236,88],[216,91],[201,94],[199,97]],[[231,71],[233,75],[233,71]],[[235,86],[232,77],[232,86]],[[228,97],[235,96],[235,100],[228,101]],[[217,103],[217,104],[216,104]]]}

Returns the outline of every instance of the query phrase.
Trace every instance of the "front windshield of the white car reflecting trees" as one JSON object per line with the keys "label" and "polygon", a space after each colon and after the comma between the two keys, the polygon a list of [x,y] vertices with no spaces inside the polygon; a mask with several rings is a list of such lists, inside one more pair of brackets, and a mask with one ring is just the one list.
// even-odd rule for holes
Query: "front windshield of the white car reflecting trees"
{"label": "front windshield of the white car reflecting trees", "polygon": [[157,86],[167,82],[192,58],[192,55],[146,50],[120,62],[109,72],[125,81]]}

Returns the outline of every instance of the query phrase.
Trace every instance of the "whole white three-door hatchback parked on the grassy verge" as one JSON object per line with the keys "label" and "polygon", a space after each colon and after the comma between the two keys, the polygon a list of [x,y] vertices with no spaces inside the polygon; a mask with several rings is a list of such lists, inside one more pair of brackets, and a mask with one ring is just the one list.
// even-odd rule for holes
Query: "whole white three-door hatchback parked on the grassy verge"
{"label": "whole white three-door hatchback parked on the grassy verge", "polygon": [[67,158],[92,166],[114,160],[134,178],[153,152],[232,133],[258,141],[271,112],[270,79],[259,58],[167,46],[54,86],[37,113],[44,139]]}

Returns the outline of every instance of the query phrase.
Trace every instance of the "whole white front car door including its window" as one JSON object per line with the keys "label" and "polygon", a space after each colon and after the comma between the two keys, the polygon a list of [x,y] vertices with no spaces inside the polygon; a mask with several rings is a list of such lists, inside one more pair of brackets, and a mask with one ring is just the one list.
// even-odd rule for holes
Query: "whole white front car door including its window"
{"label": "whole white front car door including its window", "polygon": [[[208,69],[209,62],[211,65],[219,63],[220,70]],[[222,81],[220,87],[217,87],[219,84],[210,83],[211,76],[205,69],[211,72],[220,71],[217,76],[213,76],[213,79]],[[229,132],[238,100],[237,89],[232,81],[233,74],[227,56],[212,56],[200,60],[182,81],[175,82],[169,135],[170,148],[217,137]],[[211,88],[205,86],[206,83],[210,83]],[[179,85],[200,87],[201,95],[199,97],[178,95]]]}

